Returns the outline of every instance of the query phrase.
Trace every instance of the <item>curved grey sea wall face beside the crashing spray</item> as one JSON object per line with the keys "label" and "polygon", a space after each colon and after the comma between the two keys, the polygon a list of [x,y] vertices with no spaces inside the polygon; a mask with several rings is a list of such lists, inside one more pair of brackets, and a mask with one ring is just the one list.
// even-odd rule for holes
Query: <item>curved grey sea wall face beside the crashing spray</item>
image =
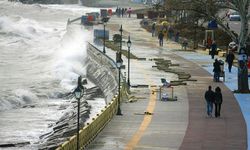
{"label": "curved grey sea wall face beside the crashing spray", "polygon": [[87,78],[104,93],[106,104],[118,92],[118,71],[115,62],[93,45],[88,45]]}

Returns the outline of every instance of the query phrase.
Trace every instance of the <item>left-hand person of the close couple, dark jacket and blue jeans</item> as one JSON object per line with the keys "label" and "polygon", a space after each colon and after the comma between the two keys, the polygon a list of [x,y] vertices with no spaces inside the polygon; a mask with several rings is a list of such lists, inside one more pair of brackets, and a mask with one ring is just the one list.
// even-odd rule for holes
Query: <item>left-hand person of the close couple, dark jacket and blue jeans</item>
{"label": "left-hand person of the close couple, dark jacket and blue jeans", "polygon": [[214,91],[211,86],[208,86],[208,90],[205,92],[205,99],[207,103],[207,115],[212,117],[213,103],[214,103]]}

